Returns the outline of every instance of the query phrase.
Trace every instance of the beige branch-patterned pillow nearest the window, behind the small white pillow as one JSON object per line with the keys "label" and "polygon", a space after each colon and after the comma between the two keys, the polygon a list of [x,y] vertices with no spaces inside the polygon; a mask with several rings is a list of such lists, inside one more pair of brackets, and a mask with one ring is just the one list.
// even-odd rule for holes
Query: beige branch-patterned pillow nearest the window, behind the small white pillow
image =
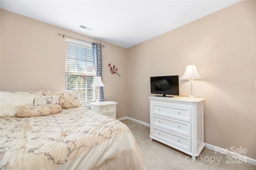
{"label": "beige branch-patterned pillow nearest the window, behind the small white pillow", "polygon": [[65,91],[49,91],[44,92],[45,96],[60,95],[59,105],[63,109],[68,109],[71,107],[80,107],[80,94],[78,90],[65,90]]}

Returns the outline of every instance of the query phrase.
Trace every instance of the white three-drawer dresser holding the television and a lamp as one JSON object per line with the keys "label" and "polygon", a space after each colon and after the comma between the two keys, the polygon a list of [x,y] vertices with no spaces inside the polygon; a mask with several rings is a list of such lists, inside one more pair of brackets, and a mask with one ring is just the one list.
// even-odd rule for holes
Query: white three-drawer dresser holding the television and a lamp
{"label": "white three-drawer dresser holding the television and a lamp", "polygon": [[192,156],[204,148],[204,100],[186,97],[150,98],[150,140]]}

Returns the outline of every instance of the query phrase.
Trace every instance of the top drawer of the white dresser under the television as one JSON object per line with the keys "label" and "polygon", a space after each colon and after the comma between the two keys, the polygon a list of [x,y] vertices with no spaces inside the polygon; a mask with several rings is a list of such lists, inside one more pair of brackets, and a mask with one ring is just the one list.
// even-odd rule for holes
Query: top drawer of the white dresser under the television
{"label": "top drawer of the white dresser under the television", "polygon": [[152,105],[152,112],[164,117],[179,119],[182,121],[191,121],[191,109],[179,106]]}

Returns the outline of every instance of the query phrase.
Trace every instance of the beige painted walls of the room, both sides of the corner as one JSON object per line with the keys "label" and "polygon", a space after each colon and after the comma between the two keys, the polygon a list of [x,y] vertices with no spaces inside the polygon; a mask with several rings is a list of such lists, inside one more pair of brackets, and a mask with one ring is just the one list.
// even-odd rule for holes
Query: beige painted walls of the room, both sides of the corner
{"label": "beige painted walls of the room, both sides of the corner", "polygon": [[[194,81],[194,95],[206,98],[205,142],[242,146],[256,159],[255,10],[255,1],[242,1],[130,49],[1,10],[0,89],[63,90],[60,32],[105,45],[105,100],[118,102],[117,118],[149,123],[150,76],[181,77],[187,64],[196,64],[204,78]],[[108,63],[121,78],[110,74]],[[188,81],[180,80],[180,96],[188,94]]]}

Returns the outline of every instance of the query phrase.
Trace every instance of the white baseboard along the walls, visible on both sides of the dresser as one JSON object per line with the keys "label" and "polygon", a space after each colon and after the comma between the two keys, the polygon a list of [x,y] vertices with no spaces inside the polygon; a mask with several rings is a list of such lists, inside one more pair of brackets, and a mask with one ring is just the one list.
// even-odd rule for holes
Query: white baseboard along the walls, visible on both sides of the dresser
{"label": "white baseboard along the walls, visible on both sides of the dresser", "polygon": [[[134,121],[136,123],[142,124],[142,125],[147,126],[147,127],[150,127],[149,123],[145,123],[143,121],[139,121],[139,120],[133,119],[131,117],[122,117],[122,118],[119,118],[118,120],[122,121],[122,120],[125,120],[125,119]],[[236,158],[236,160],[242,160],[242,162],[244,162],[244,160],[245,160],[248,164],[252,164],[252,165],[256,166],[256,159],[249,158],[249,157],[244,156],[242,154],[238,154],[238,153],[232,152],[230,150],[226,150],[226,149],[223,149],[223,148],[220,148],[220,147],[216,147],[216,146],[210,145],[208,143],[206,143],[204,147],[207,148],[207,149],[214,150],[216,152],[225,154],[225,155],[230,156],[230,157],[234,156],[234,158]]]}

